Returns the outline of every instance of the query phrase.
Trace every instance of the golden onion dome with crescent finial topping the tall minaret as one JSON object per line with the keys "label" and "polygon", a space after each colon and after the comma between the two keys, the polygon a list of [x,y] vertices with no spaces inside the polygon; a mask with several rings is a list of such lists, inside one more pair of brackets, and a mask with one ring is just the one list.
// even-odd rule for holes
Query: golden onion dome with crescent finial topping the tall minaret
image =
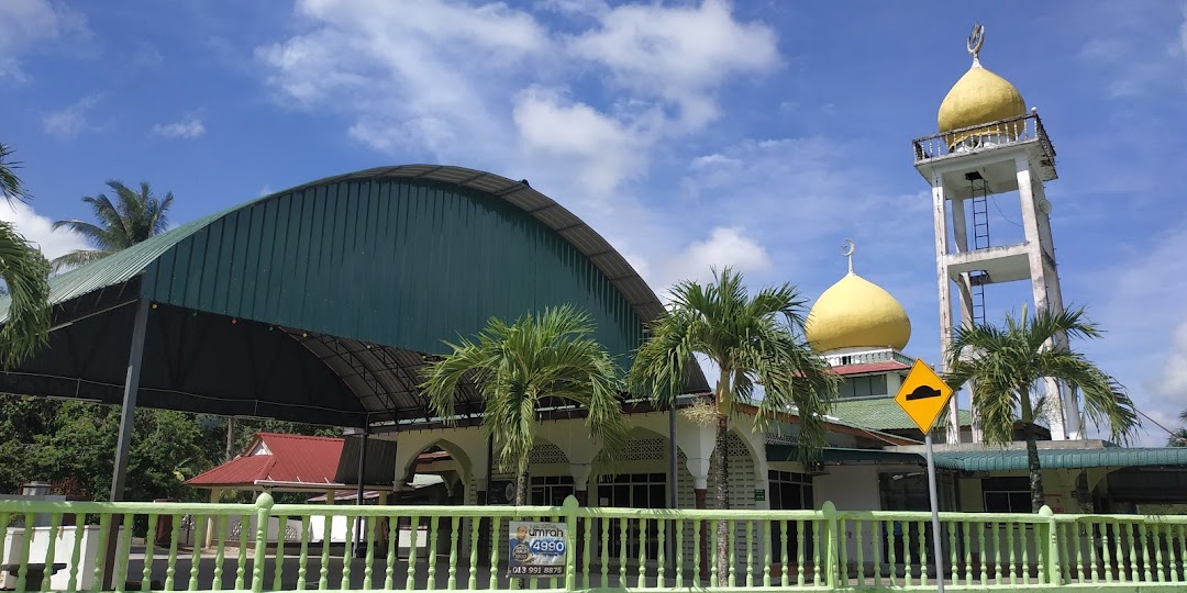
{"label": "golden onion dome with crescent finial topping the tall minaret", "polygon": [[[972,53],[972,66],[952,85],[937,114],[940,132],[967,128],[979,123],[989,123],[1027,114],[1027,104],[1022,94],[1010,84],[1010,81],[991,72],[980,65],[978,52],[984,42],[984,27],[977,25],[969,37],[969,53]],[[989,128],[976,129],[950,140],[956,145],[971,135],[992,133]],[[1013,130],[998,132],[1010,135]]]}

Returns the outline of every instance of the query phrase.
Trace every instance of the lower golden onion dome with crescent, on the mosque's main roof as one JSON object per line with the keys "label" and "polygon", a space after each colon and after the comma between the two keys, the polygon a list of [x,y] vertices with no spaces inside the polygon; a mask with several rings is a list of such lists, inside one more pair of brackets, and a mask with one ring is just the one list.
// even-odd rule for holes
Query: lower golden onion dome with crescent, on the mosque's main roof
{"label": "lower golden onion dome with crescent, on the mosque's main roof", "polygon": [[884,288],[853,273],[852,242],[849,274],[829,287],[808,312],[805,333],[818,352],[856,347],[902,350],[910,340],[910,319]]}

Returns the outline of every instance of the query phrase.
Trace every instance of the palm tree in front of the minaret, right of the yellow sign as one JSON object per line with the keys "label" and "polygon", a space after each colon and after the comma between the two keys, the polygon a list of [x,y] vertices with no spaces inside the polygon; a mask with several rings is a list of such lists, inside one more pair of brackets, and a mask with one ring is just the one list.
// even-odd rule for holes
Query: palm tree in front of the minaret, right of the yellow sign
{"label": "palm tree in front of the minaret, right of the yellow sign", "polygon": [[[1020,318],[1007,313],[1005,326],[958,327],[947,352],[951,369],[945,381],[953,389],[972,383],[972,403],[980,416],[986,442],[1014,440],[1015,419],[1022,421],[1030,471],[1030,506],[1042,509],[1042,473],[1034,421],[1049,402],[1032,396],[1046,380],[1055,380],[1078,390],[1084,413],[1098,428],[1107,423],[1112,440],[1128,442],[1138,426],[1134,402],[1125,388],[1084,355],[1052,347],[1056,337],[1098,338],[1100,330],[1090,323],[1083,308],[1055,312],[1040,310],[1034,317],[1022,308]],[[1058,408],[1056,408],[1058,409]]]}

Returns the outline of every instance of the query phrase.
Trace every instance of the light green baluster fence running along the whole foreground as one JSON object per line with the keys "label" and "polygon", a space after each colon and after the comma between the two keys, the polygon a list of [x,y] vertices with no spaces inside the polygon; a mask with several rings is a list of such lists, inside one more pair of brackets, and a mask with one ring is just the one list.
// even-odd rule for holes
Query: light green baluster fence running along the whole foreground
{"label": "light green baluster fence running along the whole foreground", "polygon": [[[507,576],[508,523],[566,523],[564,575]],[[15,591],[934,591],[931,515],[0,500]],[[1185,591],[1187,517],[940,514],[953,589]],[[724,524],[730,560],[717,560]],[[356,540],[361,546],[354,546]]]}

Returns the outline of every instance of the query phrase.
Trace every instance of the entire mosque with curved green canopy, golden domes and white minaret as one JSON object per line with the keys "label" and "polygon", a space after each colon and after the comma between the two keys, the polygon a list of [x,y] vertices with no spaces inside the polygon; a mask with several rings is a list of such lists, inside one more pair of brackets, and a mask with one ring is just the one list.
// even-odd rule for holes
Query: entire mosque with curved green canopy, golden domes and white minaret
{"label": "entire mosque with curved green canopy, golden domes and white minaret", "polygon": [[[944,98],[938,133],[912,142],[934,200],[944,349],[958,323],[984,320],[984,294],[996,285],[1029,282],[1035,307],[1062,307],[1043,192],[1056,178],[1054,148],[1018,90],[980,64],[982,39],[979,30],[970,38],[972,66]],[[991,241],[984,206],[995,195],[1018,200],[1024,241]],[[912,323],[871,281],[875,270],[858,274],[852,244],[846,255],[848,274],[819,295],[806,327],[842,377],[829,446],[804,465],[793,414],[767,434],[735,419],[735,509],[928,508],[921,434],[893,401],[915,361],[904,351]],[[490,317],[571,302],[597,319],[612,355],[629,356],[664,311],[621,254],[527,181],[438,165],[347,173],[212,213],[56,276],[51,299],[49,347],[0,371],[0,390],[122,404],[127,417],[139,403],[358,427],[337,474],[322,482],[326,499],[364,474],[389,477],[377,484],[380,503],[404,500],[417,476],[436,476],[438,495],[418,504],[506,504],[512,484],[491,461],[475,385],[459,388],[452,422],[418,390],[415,377],[443,340],[472,336]],[[693,375],[678,407],[709,393]],[[1187,448],[1086,439],[1074,394],[1046,389],[1060,402],[1040,451],[1056,512],[1187,503]],[[953,401],[937,428],[941,509],[1028,511],[1021,444],[986,447],[977,410],[959,403],[966,396]],[[572,495],[595,506],[707,508],[715,429],[647,402],[628,402],[627,412],[634,429],[623,459],[602,466],[580,410],[540,410],[531,502]],[[125,434],[113,499],[122,497]]]}

